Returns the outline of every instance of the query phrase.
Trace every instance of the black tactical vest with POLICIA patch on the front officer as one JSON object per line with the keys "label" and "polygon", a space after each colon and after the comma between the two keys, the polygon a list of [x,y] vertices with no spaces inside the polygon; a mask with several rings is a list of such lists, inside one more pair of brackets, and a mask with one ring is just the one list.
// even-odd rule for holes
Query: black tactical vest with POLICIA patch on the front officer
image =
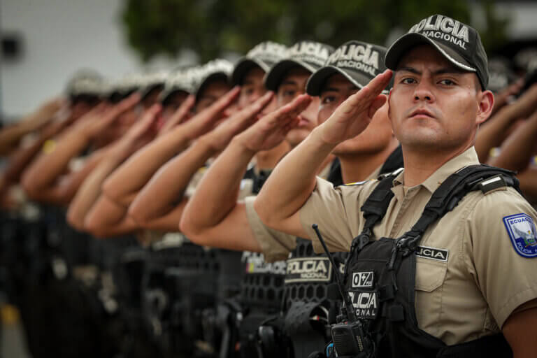
{"label": "black tactical vest with POLICIA patch on the front officer", "polygon": [[[468,192],[510,186],[518,190],[513,172],[485,165],[466,166],[448,177],[432,194],[419,220],[399,238],[375,240],[373,227],[384,217],[394,173],[381,178],[361,207],[365,223],[345,263],[342,315],[334,324],[329,357],[466,358],[512,357],[502,334],[446,345],[418,327],[415,315],[416,252],[430,224],[453,210]],[[494,179],[494,180],[492,180]],[[314,227],[323,248],[326,245]],[[337,274],[337,273],[336,273]],[[335,350],[335,352],[334,352]]]}

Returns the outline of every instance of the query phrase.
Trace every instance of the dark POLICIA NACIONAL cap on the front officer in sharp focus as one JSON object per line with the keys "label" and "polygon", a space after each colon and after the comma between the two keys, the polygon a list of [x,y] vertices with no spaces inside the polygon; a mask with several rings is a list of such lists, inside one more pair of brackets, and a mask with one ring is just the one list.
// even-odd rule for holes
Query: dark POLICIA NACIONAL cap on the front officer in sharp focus
{"label": "dark POLICIA NACIONAL cap on the front officer in sharp focus", "polygon": [[389,47],[385,64],[395,70],[403,55],[420,44],[433,45],[458,69],[475,72],[483,90],[489,85],[487,54],[477,30],[451,17],[432,15],[410,28]]}

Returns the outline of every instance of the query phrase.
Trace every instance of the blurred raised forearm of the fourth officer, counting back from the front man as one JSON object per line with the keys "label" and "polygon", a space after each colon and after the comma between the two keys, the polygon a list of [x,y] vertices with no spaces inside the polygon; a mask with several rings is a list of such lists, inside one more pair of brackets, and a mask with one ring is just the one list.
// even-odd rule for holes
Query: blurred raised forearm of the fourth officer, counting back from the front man
{"label": "blurred raised forearm of the fourth officer, counting back from the front man", "polygon": [[157,138],[153,143],[138,150],[127,162],[120,166],[103,185],[105,195],[116,202],[124,202],[126,197],[138,192],[155,172],[178,152],[186,148],[190,141],[188,131],[176,127],[173,131]]}

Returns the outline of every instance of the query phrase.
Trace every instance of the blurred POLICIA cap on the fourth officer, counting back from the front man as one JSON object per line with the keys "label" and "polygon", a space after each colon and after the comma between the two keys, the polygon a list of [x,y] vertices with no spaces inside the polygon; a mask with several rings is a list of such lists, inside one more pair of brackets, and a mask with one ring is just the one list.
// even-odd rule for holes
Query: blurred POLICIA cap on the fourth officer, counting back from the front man
{"label": "blurred POLICIA cap on the fourth officer, counting back from the front man", "polygon": [[234,85],[242,85],[246,73],[255,66],[268,72],[273,64],[284,58],[286,54],[287,47],[285,45],[272,41],[259,43],[235,64],[235,69],[231,73],[231,82]]}

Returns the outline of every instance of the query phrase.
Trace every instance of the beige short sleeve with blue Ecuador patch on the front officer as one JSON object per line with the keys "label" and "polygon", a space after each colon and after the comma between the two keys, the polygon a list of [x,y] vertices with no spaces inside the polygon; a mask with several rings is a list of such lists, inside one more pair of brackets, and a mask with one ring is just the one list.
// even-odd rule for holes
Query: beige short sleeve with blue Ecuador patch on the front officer
{"label": "beige short sleeve with blue Ecuador patch on the front officer", "polygon": [[[482,196],[466,218],[471,250],[466,264],[499,327],[537,298],[536,219],[534,208],[512,188]],[[527,235],[525,243],[520,231]]]}

